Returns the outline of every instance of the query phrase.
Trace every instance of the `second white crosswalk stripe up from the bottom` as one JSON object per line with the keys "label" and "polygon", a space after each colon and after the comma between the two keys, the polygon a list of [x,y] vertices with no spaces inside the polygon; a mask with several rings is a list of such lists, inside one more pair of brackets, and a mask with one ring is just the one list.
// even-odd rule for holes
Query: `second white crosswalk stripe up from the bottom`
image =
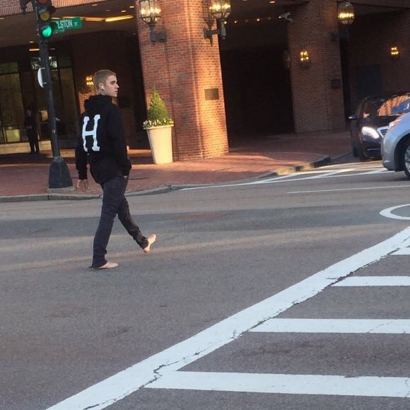
{"label": "second white crosswalk stripe up from the bottom", "polygon": [[410,334],[404,319],[270,319],[250,332],[259,333],[382,333]]}

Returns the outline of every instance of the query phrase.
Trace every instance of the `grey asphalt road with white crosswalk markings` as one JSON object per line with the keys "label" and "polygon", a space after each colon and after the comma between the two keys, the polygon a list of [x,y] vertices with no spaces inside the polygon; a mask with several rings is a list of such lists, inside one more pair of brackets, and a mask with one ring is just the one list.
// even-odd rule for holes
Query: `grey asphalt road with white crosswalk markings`
{"label": "grey asphalt road with white crosswalk markings", "polygon": [[107,272],[99,200],[0,204],[0,409],[409,409],[410,181],[346,160],[129,197]]}

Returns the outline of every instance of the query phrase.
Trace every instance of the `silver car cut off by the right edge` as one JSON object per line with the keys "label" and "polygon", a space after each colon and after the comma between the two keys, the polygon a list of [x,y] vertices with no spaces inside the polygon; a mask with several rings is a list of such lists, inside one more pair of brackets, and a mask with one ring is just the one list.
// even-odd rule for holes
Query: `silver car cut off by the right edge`
{"label": "silver car cut off by the right edge", "polygon": [[389,124],[382,141],[382,163],[388,170],[404,171],[410,179],[410,110],[408,112]]}

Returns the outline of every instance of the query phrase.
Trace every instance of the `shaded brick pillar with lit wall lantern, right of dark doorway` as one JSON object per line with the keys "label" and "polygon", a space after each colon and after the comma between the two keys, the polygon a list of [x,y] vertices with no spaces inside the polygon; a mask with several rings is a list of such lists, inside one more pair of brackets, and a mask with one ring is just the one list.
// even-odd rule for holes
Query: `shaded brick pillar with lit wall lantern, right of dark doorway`
{"label": "shaded brick pillar with lit wall lantern, right of dark doorway", "polygon": [[[295,11],[288,24],[295,131],[332,131],[344,128],[343,86],[335,0],[310,0]],[[299,64],[301,49],[310,54],[310,67]],[[332,80],[340,88],[332,88]],[[336,86],[336,85],[334,85]]]}

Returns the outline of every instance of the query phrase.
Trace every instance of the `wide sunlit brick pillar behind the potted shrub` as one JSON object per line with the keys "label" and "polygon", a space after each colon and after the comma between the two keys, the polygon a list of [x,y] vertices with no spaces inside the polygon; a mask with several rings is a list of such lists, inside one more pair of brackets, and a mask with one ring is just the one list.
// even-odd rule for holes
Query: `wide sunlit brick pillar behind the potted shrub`
{"label": "wide sunlit brick pillar behind the potted shrub", "polygon": [[175,160],[222,155],[228,151],[228,136],[218,40],[204,38],[209,4],[157,2],[163,19],[156,30],[165,29],[168,42],[151,45],[148,25],[137,18],[147,105],[155,85],[175,121]]}

